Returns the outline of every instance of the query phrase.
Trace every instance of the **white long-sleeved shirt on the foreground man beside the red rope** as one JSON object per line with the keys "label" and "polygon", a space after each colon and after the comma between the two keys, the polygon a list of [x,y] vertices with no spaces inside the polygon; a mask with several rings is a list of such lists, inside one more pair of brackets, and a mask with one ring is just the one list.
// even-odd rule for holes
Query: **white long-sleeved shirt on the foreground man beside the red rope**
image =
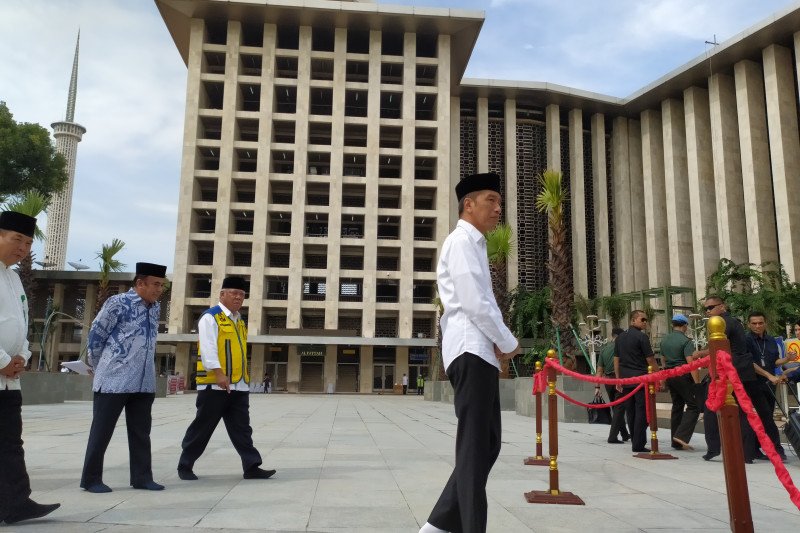
{"label": "white long-sleeved shirt on the foreground man beside the red rope", "polygon": [[499,369],[494,345],[509,353],[517,347],[517,339],[503,323],[492,292],[486,238],[469,222],[459,220],[444,240],[436,279],[444,306],[441,325],[445,370],[464,352]]}

